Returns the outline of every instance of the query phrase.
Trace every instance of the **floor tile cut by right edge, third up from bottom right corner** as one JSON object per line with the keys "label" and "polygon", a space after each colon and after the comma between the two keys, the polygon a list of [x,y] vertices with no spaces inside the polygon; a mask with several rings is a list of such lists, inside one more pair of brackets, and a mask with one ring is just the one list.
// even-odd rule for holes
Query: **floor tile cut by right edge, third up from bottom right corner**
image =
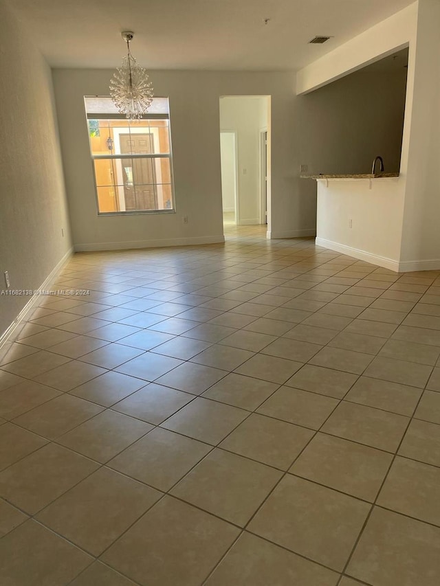
{"label": "floor tile cut by right edge, third up from bottom right corner", "polygon": [[399,455],[440,466],[440,426],[413,419],[401,442]]}

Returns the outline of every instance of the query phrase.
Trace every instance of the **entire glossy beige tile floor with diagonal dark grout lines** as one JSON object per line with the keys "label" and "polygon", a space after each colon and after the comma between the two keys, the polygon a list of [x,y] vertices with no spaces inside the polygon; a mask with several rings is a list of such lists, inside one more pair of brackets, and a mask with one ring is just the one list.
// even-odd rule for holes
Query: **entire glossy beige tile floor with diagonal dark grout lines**
{"label": "entire glossy beige tile floor with diagonal dark grout lines", "polygon": [[440,271],[77,254],[0,362],[0,583],[438,586]]}

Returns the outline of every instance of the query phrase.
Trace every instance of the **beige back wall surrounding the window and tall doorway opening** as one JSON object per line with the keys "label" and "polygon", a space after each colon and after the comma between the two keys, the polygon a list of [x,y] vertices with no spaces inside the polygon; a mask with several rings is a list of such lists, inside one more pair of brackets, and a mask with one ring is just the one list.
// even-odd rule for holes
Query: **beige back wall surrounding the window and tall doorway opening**
{"label": "beige back wall surrounding the window and tall doorway opening", "polygon": [[[108,69],[55,69],[58,122],[78,249],[190,244],[223,238],[219,97],[271,95],[272,236],[313,234],[315,203],[300,192],[294,143],[292,73],[151,71],[156,95],[170,98],[175,214],[98,216],[84,95],[109,92]],[[188,216],[188,224],[184,224]],[[311,230],[311,232],[310,232]]]}

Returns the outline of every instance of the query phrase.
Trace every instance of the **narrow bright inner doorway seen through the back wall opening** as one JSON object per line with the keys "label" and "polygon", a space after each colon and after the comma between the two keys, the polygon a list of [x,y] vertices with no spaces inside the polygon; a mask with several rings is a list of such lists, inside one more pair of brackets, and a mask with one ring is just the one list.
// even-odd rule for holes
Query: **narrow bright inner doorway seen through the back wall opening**
{"label": "narrow bright inner doorway seen through the back wall opening", "polygon": [[238,224],[236,133],[234,131],[220,133],[220,159],[223,225]]}

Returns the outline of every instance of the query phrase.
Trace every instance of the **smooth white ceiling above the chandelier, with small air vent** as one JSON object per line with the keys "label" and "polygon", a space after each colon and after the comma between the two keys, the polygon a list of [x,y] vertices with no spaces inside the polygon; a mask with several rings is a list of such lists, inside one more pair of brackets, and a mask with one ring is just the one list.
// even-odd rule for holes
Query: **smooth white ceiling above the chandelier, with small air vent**
{"label": "smooth white ceiling above the chandelier, with small air vent", "polygon": [[[413,0],[8,0],[53,67],[300,69]],[[263,19],[269,18],[265,25]],[[316,35],[333,36],[309,45]]]}

